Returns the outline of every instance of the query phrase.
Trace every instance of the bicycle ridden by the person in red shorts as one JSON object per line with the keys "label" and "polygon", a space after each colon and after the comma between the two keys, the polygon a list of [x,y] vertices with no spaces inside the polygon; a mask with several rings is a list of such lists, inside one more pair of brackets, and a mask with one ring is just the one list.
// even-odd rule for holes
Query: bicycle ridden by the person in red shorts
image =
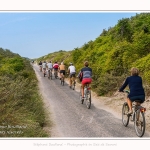
{"label": "bicycle ridden by the person in red shorts", "polygon": [[83,102],[85,100],[86,107],[88,109],[90,109],[90,107],[91,107],[91,88],[88,86],[88,84],[85,85],[85,87],[84,87],[84,99],[82,99],[81,90],[82,89],[80,88],[80,101],[81,101],[81,104],[83,104]]}

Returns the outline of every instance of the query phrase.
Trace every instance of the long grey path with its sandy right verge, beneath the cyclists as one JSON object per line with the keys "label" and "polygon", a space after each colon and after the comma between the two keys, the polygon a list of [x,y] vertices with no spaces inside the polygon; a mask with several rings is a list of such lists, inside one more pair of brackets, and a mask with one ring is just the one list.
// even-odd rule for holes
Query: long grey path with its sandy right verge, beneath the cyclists
{"label": "long grey path with its sandy right verge, beneath the cyclists", "polygon": [[[75,91],[70,90],[68,79],[65,79],[66,83],[63,87],[58,79],[49,81],[47,77],[44,78],[36,67],[35,72],[39,80],[39,88],[53,122],[52,128],[47,129],[51,133],[51,137],[136,137],[133,123],[130,123],[128,128],[125,128],[121,123],[122,104],[126,95],[115,93],[113,97],[98,97],[92,92],[92,107],[87,111],[87,108],[78,102],[79,83],[77,83]],[[146,105],[149,113],[149,101],[144,105]],[[146,132],[150,131],[148,119],[149,114],[146,113]],[[107,124],[104,123],[104,120],[107,120]],[[91,121],[92,126],[90,125]],[[89,127],[87,128],[88,133],[85,127]],[[146,133],[145,136],[149,137],[150,134]]]}

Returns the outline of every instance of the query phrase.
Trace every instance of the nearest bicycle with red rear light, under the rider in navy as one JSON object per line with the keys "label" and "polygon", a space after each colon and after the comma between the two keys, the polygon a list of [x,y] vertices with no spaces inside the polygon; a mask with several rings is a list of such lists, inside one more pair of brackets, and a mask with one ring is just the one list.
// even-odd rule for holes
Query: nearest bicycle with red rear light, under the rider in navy
{"label": "nearest bicycle with red rear light, under the rider in navy", "polygon": [[[129,91],[125,91],[127,94],[129,94]],[[136,132],[136,135],[138,137],[142,137],[145,133],[145,127],[146,127],[146,121],[145,121],[145,111],[146,108],[141,106],[140,100],[135,100],[135,102],[132,103],[132,114],[128,114],[129,106],[127,102],[125,102],[122,106],[122,123],[125,127],[128,126],[129,120],[134,122],[134,129]]]}

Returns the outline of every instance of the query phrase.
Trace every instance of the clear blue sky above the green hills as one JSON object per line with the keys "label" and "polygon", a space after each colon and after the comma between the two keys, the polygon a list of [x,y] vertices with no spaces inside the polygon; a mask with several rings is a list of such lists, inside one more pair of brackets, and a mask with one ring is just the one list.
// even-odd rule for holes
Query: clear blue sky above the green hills
{"label": "clear blue sky above the green hills", "polygon": [[0,47],[38,58],[73,50],[136,12],[0,12]]}

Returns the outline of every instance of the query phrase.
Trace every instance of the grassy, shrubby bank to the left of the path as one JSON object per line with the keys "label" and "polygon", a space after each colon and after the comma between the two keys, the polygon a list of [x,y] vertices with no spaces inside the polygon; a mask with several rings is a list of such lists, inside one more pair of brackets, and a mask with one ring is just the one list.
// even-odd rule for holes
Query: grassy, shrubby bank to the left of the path
{"label": "grassy, shrubby bank to the left of the path", "polygon": [[46,112],[30,61],[0,48],[0,137],[45,137]]}

